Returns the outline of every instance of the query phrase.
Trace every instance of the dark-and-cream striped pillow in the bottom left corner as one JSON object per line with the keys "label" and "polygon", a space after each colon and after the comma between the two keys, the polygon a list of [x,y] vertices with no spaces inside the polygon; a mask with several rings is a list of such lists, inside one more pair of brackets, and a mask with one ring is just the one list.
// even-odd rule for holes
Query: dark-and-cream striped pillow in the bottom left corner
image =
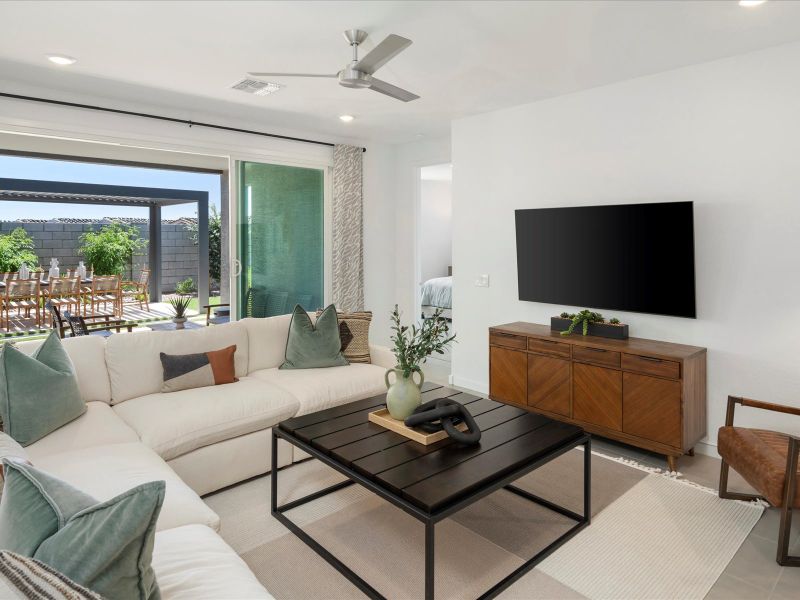
{"label": "dark-and-cream striped pillow in the bottom left corner", "polygon": [[103,600],[46,564],[5,551],[0,552],[0,598]]}

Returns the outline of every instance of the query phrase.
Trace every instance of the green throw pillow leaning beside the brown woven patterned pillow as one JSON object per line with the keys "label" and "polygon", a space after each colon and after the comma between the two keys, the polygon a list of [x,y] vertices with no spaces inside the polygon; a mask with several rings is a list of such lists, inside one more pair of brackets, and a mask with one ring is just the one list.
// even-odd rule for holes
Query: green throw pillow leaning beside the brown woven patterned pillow
{"label": "green throw pillow leaning beside the brown woven patterned pillow", "polygon": [[295,306],[286,340],[286,362],[281,369],[317,369],[349,364],[342,355],[336,307],[331,304],[323,310],[315,326],[303,307]]}

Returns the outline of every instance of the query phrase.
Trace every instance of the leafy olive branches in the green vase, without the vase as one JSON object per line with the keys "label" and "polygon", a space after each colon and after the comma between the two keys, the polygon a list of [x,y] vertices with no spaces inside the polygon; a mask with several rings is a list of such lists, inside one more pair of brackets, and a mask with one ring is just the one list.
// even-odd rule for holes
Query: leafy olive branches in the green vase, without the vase
{"label": "leafy olive branches in the green vase, without the vase", "polygon": [[411,377],[412,371],[419,371],[420,363],[424,363],[431,354],[444,354],[445,347],[456,339],[455,334],[448,335],[450,328],[440,308],[429,319],[423,319],[422,325],[417,327],[415,324],[409,326],[400,323],[400,310],[395,304],[392,331],[395,332],[391,337],[393,352],[403,377]]}

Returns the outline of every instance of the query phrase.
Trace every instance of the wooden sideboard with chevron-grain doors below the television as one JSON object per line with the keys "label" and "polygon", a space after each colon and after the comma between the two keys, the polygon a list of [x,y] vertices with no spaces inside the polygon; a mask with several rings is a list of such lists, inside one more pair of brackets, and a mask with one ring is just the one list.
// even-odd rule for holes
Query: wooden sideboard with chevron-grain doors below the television
{"label": "wooden sideboard with chevron-grain doors below the television", "polygon": [[489,328],[489,396],[664,454],[676,470],[706,435],[706,349],[498,325]]}

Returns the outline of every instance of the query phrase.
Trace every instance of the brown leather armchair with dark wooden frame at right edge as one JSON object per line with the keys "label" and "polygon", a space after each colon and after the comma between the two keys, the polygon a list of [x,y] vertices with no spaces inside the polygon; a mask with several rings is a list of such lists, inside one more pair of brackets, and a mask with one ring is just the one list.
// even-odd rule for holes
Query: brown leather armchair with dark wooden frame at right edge
{"label": "brown leather armchair with dark wooden frame at right edge", "polygon": [[[800,567],[800,556],[789,556],[789,535],[792,529],[792,509],[800,508],[798,479],[798,452],[800,438],[767,431],[733,426],[736,405],[798,415],[800,408],[728,396],[728,412],[725,426],[717,436],[717,450],[722,457],[719,475],[720,498],[734,500],[762,499],[781,509],[781,524],[778,530],[778,564]],[[728,469],[733,467],[758,495],[728,491]]]}

